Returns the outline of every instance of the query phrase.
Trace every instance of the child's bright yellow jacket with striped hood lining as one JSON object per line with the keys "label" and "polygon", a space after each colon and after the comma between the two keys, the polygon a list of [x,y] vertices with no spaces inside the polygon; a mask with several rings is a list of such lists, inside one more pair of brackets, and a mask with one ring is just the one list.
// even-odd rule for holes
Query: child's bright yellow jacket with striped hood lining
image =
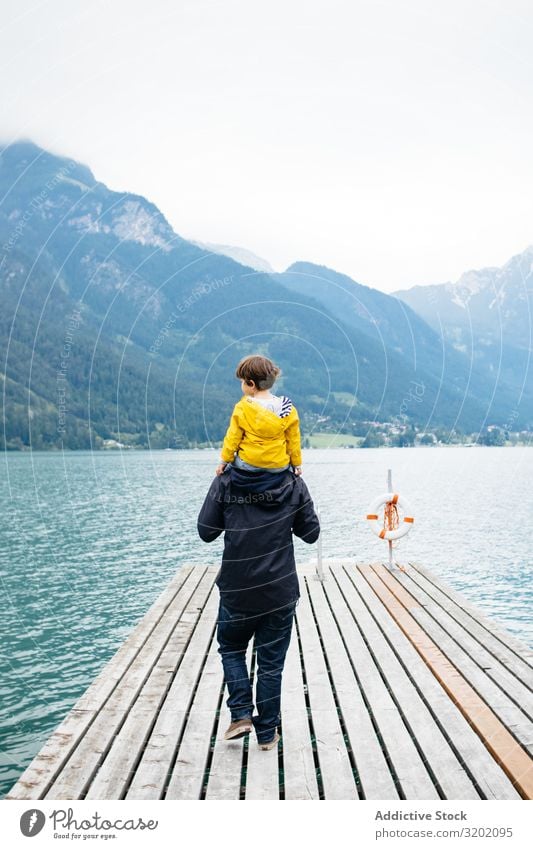
{"label": "child's bright yellow jacket with striped hood lining", "polygon": [[251,466],[277,469],[302,462],[300,421],[296,407],[280,418],[262,404],[243,395],[235,404],[222,445],[222,460],[231,463],[235,454]]}

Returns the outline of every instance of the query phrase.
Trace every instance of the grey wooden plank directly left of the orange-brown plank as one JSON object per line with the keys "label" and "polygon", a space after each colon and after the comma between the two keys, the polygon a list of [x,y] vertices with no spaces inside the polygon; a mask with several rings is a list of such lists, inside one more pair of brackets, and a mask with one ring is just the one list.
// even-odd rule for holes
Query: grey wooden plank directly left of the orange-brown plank
{"label": "grey wooden plank directly left of the orange-brown plank", "polygon": [[[354,566],[345,571],[354,583],[370,613],[379,623],[379,628],[389,645],[434,713],[447,738],[458,753],[459,762],[473,776],[476,785],[487,799],[519,799],[520,795],[509,778],[496,763],[474,729],[450,699],[415,647],[398,628],[388,610],[383,606],[365,579]],[[333,569],[334,575],[337,569]],[[359,616],[362,616],[360,614]],[[358,617],[359,618],[359,617]],[[365,631],[368,630],[365,627]],[[456,794],[453,794],[456,797]]]}

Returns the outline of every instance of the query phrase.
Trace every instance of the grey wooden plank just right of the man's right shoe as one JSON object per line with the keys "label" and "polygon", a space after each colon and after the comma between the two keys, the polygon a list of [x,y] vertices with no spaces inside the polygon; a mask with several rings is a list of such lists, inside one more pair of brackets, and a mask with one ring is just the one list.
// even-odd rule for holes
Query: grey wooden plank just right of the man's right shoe
{"label": "grey wooden plank just right of the man's right shoe", "polygon": [[298,638],[294,627],[281,685],[281,725],[285,799],[318,799]]}

